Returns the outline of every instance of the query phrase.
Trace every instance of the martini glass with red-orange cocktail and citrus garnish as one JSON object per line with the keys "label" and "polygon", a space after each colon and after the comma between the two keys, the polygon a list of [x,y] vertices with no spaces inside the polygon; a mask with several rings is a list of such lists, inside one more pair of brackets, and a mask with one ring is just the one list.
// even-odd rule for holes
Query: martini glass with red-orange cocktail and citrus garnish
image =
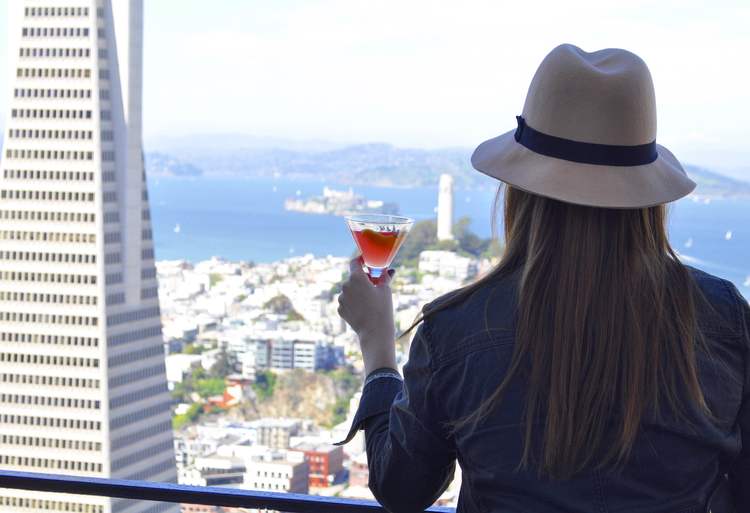
{"label": "martini glass with red-orange cocktail and citrus garnish", "polygon": [[370,281],[377,284],[406,239],[413,219],[385,214],[346,216]]}

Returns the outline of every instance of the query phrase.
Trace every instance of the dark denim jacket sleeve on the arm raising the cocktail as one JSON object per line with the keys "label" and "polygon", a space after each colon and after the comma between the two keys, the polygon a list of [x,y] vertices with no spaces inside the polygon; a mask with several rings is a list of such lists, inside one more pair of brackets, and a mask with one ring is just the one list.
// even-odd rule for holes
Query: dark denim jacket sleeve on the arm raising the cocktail
{"label": "dark denim jacket sleeve on the arm raising the cocktail", "polygon": [[[401,385],[393,379],[377,381]],[[369,400],[363,394],[362,404]],[[427,326],[422,323],[404,366],[403,384],[388,411],[363,422],[370,490],[392,513],[423,511],[453,480],[456,451],[444,434],[439,401]]]}

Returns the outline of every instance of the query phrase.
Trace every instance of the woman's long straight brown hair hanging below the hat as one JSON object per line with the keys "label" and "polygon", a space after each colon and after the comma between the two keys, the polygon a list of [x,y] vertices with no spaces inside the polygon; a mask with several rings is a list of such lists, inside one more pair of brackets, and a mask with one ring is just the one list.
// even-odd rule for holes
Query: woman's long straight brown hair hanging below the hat
{"label": "woman's long straight brown hair hanging below the hat", "polygon": [[664,206],[594,208],[507,187],[504,221],[494,270],[407,330],[488,282],[520,275],[508,371],[454,430],[482,421],[523,374],[519,468],[530,463],[532,428],[543,419],[539,472],[566,479],[624,462],[648,408],[666,406],[684,419],[689,401],[710,415],[696,364],[697,287],[669,245]]}

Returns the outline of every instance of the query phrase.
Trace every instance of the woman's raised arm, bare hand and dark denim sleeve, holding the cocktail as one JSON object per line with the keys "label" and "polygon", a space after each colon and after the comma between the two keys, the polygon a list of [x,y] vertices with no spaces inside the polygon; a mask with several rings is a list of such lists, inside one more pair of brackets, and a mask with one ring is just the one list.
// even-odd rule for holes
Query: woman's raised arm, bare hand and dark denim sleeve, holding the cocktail
{"label": "woman's raised arm, bare hand and dark denim sleeve, holding the cocktail", "polygon": [[394,370],[389,283],[390,277],[373,285],[355,259],[339,297],[339,313],[360,336],[368,372],[352,428],[341,443],[364,428],[369,485],[375,497],[394,513],[422,511],[453,479],[456,452],[438,413],[440,397],[434,392],[425,323],[414,335],[403,381]]}

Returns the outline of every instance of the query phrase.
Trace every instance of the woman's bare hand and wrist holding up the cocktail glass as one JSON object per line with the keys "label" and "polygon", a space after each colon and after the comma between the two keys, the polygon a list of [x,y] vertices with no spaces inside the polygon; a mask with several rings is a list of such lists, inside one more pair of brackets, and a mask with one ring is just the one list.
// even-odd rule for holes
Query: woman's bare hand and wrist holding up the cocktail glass
{"label": "woman's bare hand and wrist holding up the cocktail glass", "polygon": [[339,315],[359,336],[365,375],[381,367],[396,369],[392,270],[383,273],[377,285],[362,269],[362,257],[349,262],[349,271],[339,295]]}

